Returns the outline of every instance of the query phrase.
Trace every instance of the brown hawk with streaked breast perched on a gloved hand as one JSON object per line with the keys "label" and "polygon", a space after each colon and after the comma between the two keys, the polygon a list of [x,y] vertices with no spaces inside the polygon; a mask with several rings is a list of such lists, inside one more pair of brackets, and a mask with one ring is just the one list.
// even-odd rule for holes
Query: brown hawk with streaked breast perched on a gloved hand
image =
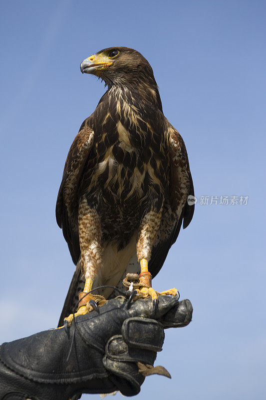
{"label": "brown hawk with streaked breast perched on a gloved hand", "polygon": [[[82,293],[103,284],[116,286],[126,271],[140,271],[139,294],[157,301],[160,293],[151,287],[151,275],[159,272],[182,222],[186,228],[194,212],[187,201],[194,189],[186,147],[163,114],[152,67],[141,53],[105,48],[84,59],[80,69],[108,88],[70,147],[57,223],[73,262],[81,266]],[[77,276],[60,322],[72,312]],[[111,291],[98,297],[105,301]],[[88,294],[86,302],[95,296]],[[83,301],[77,313],[88,309]]]}

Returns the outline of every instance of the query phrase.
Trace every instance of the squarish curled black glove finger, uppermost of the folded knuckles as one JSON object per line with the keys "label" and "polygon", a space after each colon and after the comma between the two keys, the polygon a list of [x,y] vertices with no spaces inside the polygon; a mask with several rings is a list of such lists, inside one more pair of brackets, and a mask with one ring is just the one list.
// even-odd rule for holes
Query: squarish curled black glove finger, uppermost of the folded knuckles
{"label": "squarish curled black glove finger, uppermost of the folded knuckles", "polygon": [[127,318],[122,325],[122,336],[130,347],[161,351],[164,342],[163,325],[149,318]]}

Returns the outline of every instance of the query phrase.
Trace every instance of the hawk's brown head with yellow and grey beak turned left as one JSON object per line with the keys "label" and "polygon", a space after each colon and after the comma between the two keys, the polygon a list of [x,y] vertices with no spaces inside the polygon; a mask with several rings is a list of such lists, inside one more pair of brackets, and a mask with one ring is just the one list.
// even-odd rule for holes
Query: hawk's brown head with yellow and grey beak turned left
{"label": "hawk's brown head with yellow and grey beak turned left", "polygon": [[108,85],[126,86],[140,81],[156,85],[149,62],[141,53],[128,47],[100,50],[84,59],[80,70],[102,78]]}

